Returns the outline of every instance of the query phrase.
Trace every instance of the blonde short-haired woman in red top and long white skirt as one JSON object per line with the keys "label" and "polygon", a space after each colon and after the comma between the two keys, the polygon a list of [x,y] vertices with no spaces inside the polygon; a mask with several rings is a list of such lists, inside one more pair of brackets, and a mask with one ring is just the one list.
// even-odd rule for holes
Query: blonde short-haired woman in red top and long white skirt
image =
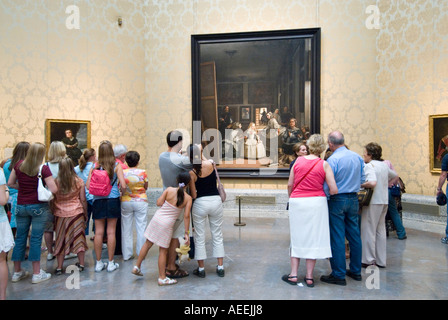
{"label": "blonde short-haired woman in red top and long white skirt", "polygon": [[320,159],[325,141],[319,134],[308,142],[309,155],[297,158],[288,181],[289,224],[291,233],[291,272],[282,280],[297,285],[300,259],[306,259],[305,284],[314,287],[313,272],[316,259],[331,257],[326,182],[330,194],[337,194],[334,174],[328,163]]}

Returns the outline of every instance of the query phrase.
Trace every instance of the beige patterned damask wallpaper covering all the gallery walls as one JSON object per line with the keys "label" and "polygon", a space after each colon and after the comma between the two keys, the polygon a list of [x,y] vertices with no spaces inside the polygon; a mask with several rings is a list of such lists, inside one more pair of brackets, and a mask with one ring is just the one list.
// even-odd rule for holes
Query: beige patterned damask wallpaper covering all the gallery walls
{"label": "beige patterned damask wallpaper covering all the gallery walls", "polygon": [[[72,5],[80,29],[67,28]],[[160,187],[166,133],[191,130],[191,34],[321,27],[322,133],[342,130],[358,153],[379,142],[408,192],[432,195],[428,116],[447,110],[447,12],[438,0],[0,0],[0,155],[44,141],[46,118],[91,120],[93,147],[138,150]]]}

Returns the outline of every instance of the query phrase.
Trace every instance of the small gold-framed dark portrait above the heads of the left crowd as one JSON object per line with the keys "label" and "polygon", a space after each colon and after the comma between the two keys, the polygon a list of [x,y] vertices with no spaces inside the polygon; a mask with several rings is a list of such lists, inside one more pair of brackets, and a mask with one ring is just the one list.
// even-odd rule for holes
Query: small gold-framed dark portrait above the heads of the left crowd
{"label": "small gold-framed dark portrait above the heads of the left crowd", "polygon": [[91,147],[90,121],[47,119],[45,121],[47,155],[53,141],[64,143],[67,156],[77,166],[84,150]]}

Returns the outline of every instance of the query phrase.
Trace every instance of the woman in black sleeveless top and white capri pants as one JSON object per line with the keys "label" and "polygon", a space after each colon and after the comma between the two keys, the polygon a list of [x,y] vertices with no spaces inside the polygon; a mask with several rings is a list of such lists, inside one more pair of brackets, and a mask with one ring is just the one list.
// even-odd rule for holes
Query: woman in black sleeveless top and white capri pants
{"label": "woman in black sleeveless top and white capri pants", "polygon": [[205,250],[205,223],[208,218],[212,236],[213,257],[218,259],[216,272],[224,277],[224,241],[222,236],[223,207],[218,193],[214,163],[202,157],[199,145],[188,147],[190,162],[190,192],[193,197],[192,218],[194,223],[195,259],[198,268],[193,271],[198,277],[205,277],[204,260],[207,258]]}

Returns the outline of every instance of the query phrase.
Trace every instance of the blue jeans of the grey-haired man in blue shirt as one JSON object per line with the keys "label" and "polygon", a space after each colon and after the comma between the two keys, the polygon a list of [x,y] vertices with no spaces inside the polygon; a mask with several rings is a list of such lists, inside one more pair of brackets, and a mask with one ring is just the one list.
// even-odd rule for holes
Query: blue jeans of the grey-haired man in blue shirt
{"label": "blue jeans of the grey-haired man in blue shirt", "polygon": [[330,196],[328,208],[332,275],[338,279],[345,279],[345,238],[350,246],[350,271],[354,274],[361,274],[362,244],[358,224],[358,196],[356,193]]}

